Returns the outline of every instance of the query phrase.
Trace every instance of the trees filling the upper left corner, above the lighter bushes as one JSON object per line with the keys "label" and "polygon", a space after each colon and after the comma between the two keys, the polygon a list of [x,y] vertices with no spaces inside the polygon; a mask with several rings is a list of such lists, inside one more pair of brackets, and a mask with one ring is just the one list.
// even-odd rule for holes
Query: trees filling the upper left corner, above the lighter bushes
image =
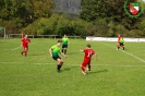
{"label": "trees filling the upper left corner, above the lighter bushes", "polygon": [[[0,8],[2,26],[7,26],[4,22],[15,21],[14,25],[20,31],[37,19],[50,17],[55,5],[52,0],[0,0]],[[7,31],[12,32],[13,29],[7,28]]]}

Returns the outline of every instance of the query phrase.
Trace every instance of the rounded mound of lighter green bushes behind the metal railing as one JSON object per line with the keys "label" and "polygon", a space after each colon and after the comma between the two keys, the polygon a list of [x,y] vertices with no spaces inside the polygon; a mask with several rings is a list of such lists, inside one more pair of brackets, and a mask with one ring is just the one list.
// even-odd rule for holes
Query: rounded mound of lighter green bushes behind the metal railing
{"label": "rounded mound of lighter green bushes behind the metal railing", "polygon": [[69,15],[53,14],[49,19],[40,19],[29,24],[24,32],[33,35],[76,35],[85,36],[87,22],[77,17],[70,17]]}

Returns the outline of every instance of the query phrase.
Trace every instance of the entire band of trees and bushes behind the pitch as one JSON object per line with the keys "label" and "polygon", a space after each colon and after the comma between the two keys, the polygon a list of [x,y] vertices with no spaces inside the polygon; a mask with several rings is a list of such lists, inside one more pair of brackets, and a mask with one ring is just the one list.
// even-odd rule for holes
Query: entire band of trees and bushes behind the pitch
{"label": "entire band of trees and bushes behind the pitch", "polygon": [[[120,33],[124,37],[145,37],[145,14],[129,16],[123,0],[60,1],[62,5],[55,3],[57,0],[0,0],[0,26],[7,28],[7,34],[114,37]],[[126,10],[130,10],[129,2]],[[142,4],[145,7],[141,0],[140,12]],[[57,7],[70,10],[56,13]],[[72,16],[72,11],[78,8],[77,15]]]}

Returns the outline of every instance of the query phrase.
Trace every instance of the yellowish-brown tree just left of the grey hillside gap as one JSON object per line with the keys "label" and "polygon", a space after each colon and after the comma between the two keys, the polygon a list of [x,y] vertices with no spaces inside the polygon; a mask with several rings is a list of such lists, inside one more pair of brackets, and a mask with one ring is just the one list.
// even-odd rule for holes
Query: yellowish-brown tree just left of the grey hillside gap
{"label": "yellowish-brown tree just left of the grey hillside gap", "polygon": [[26,0],[25,2],[29,16],[36,19],[50,17],[55,9],[52,0]]}

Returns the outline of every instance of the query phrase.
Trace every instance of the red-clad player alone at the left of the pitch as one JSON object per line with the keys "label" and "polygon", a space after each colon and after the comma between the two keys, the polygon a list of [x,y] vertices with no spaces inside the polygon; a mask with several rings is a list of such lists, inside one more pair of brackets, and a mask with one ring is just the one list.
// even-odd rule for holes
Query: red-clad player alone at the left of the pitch
{"label": "red-clad player alone at the left of the pitch", "polygon": [[22,38],[22,44],[21,44],[21,46],[24,48],[24,50],[21,52],[22,56],[23,53],[25,53],[25,57],[27,56],[28,43],[31,43],[31,39],[27,37],[27,35],[25,35],[25,37]]}

